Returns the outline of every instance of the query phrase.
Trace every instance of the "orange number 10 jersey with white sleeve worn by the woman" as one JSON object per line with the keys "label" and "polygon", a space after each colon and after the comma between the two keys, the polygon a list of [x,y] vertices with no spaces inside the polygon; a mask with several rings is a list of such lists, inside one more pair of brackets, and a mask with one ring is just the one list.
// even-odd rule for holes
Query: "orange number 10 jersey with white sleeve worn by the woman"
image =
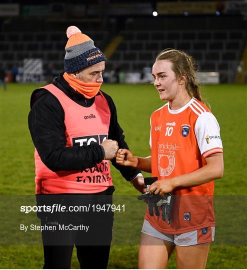
{"label": "orange number 10 jersey with white sleeve worn by the woman", "polygon": [[[222,152],[219,125],[211,111],[195,98],[177,110],[169,102],[155,110],[150,119],[152,176],[166,179],[194,171],[206,164],[205,157]],[[145,219],[163,233],[214,226],[213,185],[176,188],[173,193],[171,223],[159,216]]]}

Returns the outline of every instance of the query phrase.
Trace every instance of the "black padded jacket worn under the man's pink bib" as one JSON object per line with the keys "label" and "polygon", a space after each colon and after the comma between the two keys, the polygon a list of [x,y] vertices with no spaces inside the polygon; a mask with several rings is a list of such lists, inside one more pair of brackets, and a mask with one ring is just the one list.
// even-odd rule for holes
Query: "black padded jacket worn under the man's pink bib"
{"label": "black padded jacket worn under the man's pink bib", "polygon": [[[69,98],[84,107],[90,107],[94,97],[84,98],[82,94],[69,86],[62,73],[53,79],[56,87]],[[102,92],[110,109],[108,139],[116,140],[119,148],[127,148],[123,130],[117,122],[116,107],[109,95]],[[58,99],[44,88],[36,89],[31,94],[31,110],[28,115],[28,127],[32,141],[43,163],[52,171],[83,170],[99,163],[104,158],[103,147],[96,143],[87,146],[66,147],[64,111]],[[111,163],[126,180],[132,180],[139,170]]]}

